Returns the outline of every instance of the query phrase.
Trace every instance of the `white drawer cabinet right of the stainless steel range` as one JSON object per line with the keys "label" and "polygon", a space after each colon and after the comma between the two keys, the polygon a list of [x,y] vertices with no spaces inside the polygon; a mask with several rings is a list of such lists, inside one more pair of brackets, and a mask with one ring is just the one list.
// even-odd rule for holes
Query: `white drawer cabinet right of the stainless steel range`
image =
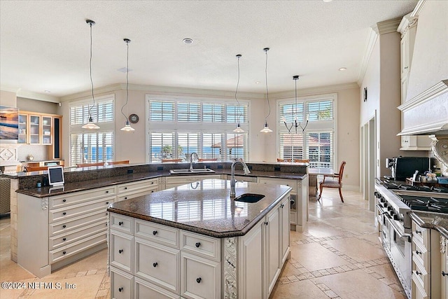
{"label": "white drawer cabinet right of the stainless steel range", "polygon": [[412,221],[412,298],[440,298],[440,233]]}

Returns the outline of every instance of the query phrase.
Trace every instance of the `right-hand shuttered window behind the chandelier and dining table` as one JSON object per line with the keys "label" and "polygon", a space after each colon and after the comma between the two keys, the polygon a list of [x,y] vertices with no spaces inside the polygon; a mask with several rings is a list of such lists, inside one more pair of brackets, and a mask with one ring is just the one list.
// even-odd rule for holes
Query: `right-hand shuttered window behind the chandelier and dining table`
{"label": "right-hand shuttered window behind the chandelier and dining table", "polygon": [[[336,94],[316,97],[287,99],[279,102],[279,158],[309,159],[311,168],[335,167],[335,102]],[[288,128],[297,118],[297,123],[308,125]],[[302,134],[304,133],[304,134]]]}

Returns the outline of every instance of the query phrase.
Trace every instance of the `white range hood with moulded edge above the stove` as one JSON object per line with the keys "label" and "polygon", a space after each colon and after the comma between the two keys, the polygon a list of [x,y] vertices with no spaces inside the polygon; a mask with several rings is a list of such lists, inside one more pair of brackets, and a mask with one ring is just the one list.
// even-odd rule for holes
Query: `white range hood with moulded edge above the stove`
{"label": "white range hood with moulded edge above the stove", "polygon": [[402,131],[398,135],[448,135],[448,79],[398,106]]}

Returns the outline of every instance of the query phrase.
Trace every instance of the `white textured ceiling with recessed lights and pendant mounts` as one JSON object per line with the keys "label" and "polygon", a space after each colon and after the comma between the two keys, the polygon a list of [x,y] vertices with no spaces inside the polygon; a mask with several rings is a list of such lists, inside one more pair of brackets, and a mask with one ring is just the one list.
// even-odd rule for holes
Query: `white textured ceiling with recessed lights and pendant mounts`
{"label": "white textured ceiling with recessed lights and pendant mounts", "polygon": [[[52,97],[125,83],[269,92],[353,83],[370,27],[402,1],[0,1],[0,85]],[[190,45],[183,39],[190,38]],[[346,71],[339,71],[346,67]],[[257,83],[258,82],[258,83]]]}

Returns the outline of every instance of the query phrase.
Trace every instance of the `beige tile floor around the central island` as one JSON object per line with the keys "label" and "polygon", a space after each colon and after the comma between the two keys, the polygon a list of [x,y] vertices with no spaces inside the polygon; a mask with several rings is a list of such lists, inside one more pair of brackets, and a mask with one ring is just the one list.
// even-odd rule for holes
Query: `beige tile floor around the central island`
{"label": "beige tile floor around the central island", "polygon": [[[373,213],[359,193],[324,190],[310,197],[304,232],[291,232],[291,258],[272,291],[283,298],[406,298],[379,244]],[[59,283],[62,289],[3,289],[0,298],[110,298],[106,249],[38,279],[10,260],[9,218],[0,218],[0,281]],[[67,284],[76,288],[65,288]],[[39,284],[37,284],[39,285]]]}

